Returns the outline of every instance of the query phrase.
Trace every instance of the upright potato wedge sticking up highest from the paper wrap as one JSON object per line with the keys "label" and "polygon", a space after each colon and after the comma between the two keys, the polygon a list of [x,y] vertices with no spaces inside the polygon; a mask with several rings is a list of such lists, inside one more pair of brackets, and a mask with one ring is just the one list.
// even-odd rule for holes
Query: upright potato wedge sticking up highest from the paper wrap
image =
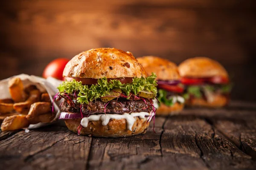
{"label": "upright potato wedge sticking up highest from the paper wrap", "polygon": [[23,83],[20,78],[12,78],[8,82],[9,92],[15,102],[24,102],[26,100],[26,93],[23,91]]}

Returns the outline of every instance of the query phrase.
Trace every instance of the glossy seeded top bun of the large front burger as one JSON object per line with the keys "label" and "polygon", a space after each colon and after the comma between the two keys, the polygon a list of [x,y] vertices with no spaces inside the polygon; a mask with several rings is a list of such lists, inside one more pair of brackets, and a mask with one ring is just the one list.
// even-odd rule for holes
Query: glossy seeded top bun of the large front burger
{"label": "glossy seeded top bun of the large front burger", "polygon": [[146,72],[131,52],[116,48],[96,48],[73,57],[67,63],[63,77],[140,78],[146,77]]}

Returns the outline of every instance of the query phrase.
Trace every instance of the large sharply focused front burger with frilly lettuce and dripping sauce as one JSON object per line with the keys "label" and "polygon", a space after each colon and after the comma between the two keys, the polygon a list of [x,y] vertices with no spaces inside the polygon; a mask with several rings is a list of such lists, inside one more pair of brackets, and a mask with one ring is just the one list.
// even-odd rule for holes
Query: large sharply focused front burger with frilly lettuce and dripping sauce
{"label": "large sharply focused front burger with frilly lettuce and dripping sauce", "polygon": [[96,48],[81,52],[66,65],[57,100],[59,119],[80,135],[125,137],[145,133],[154,119],[156,75],[147,77],[130,52]]}

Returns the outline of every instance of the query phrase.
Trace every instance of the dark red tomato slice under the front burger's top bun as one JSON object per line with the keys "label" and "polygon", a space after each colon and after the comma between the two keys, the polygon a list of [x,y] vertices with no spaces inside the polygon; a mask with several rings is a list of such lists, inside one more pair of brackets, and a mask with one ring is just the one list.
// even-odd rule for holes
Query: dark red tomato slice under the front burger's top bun
{"label": "dark red tomato slice under the front burger's top bun", "polygon": [[[78,82],[82,82],[83,85],[93,85],[97,84],[98,79],[93,79],[93,78],[79,78],[79,77],[64,77],[64,80],[71,81],[72,79],[75,79]],[[108,82],[113,79],[108,79]],[[132,82],[132,78],[123,78],[123,79],[118,79],[122,84],[127,84]]]}

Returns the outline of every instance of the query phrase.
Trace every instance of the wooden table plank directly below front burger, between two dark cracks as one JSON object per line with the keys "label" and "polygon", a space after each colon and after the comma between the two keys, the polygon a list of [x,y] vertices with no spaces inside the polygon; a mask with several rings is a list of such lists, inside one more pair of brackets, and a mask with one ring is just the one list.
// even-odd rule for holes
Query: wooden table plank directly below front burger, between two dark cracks
{"label": "wooden table plank directly below front burger, between two dark cracks", "polygon": [[[161,157],[160,135],[165,118],[151,122],[147,133],[128,138],[93,138],[88,169],[134,169],[149,157]],[[118,162],[118,163],[117,163]],[[145,162],[145,163],[146,163]]]}

